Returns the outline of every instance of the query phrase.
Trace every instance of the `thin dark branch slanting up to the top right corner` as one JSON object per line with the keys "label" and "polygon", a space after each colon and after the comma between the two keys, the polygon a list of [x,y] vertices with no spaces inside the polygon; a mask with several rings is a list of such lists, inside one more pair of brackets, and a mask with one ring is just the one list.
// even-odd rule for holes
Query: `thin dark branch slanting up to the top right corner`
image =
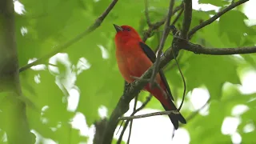
{"label": "thin dark branch slanting up to the top right corner", "polygon": [[192,35],[197,32],[198,30],[202,29],[203,27],[210,25],[212,22],[214,22],[216,19],[220,18],[223,14],[226,12],[234,9],[235,7],[241,5],[242,3],[245,3],[249,0],[240,0],[238,2],[231,2],[230,6],[227,6],[225,9],[219,11],[217,14],[215,14],[212,18],[209,18],[205,22],[200,23],[198,26],[195,26],[192,30],[190,30],[188,34],[188,38],[190,39]]}

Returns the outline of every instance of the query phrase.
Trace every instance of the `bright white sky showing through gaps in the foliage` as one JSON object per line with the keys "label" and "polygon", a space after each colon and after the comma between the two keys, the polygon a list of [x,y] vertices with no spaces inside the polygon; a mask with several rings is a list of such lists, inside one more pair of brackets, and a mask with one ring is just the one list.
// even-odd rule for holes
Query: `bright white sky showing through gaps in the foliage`
{"label": "bright white sky showing through gaps in the foliage", "polygon": [[[22,14],[26,10],[24,10],[24,6],[22,6],[21,3],[18,1],[14,2],[15,11],[18,14]],[[256,14],[255,14],[255,6],[256,1],[250,0],[249,2],[246,2],[246,5],[244,7],[246,16],[250,19],[250,24],[256,24]],[[211,5],[199,5],[198,0],[193,0],[193,9],[198,10],[218,10],[218,7],[211,6]],[[22,32],[27,33],[26,29],[22,28]],[[102,48],[102,57],[107,57],[107,51]],[[50,58],[50,63],[55,63],[56,60],[61,60],[62,62],[65,62],[66,65],[70,65],[70,62],[66,61],[67,55],[66,54],[56,54],[53,58]],[[85,62],[85,60],[84,60]],[[35,67],[34,67],[35,68]],[[86,69],[90,68],[88,65]],[[52,67],[51,70],[54,70]],[[73,82],[75,82],[75,76],[73,74],[70,74],[70,82],[66,83],[66,86],[72,85]],[[35,77],[35,79],[37,79]],[[244,94],[250,94],[256,92],[254,86],[256,86],[256,71],[248,71],[246,74],[242,77],[242,86],[239,87],[239,89]],[[69,87],[69,86],[68,86]],[[210,94],[208,90],[204,89],[194,89],[190,94],[188,94],[188,97],[190,98],[193,106],[191,107],[192,110],[198,110],[200,109],[210,98]],[[78,106],[78,100],[79,100],[79,93],[78,90],[70,89],[70,96],[68,98],[68,107],[67,110],[74,111],[76,110]],[[134,101],[130,102],[130,110],[125,114],[128,116],[132,110],[133,110]],[[141,106],[142,103],[138,102],[138,107]],[[206,115],[208,114],[208,107],[205,106],[203,110],[200,111],[199,114]],[[47,110],[47,106],[43,107],[42,111]],[[239,143],[242,141],[242,138],[240,134],[236,132],[236,128],[240,122],[239,118],[236,117],[238,114],[241,114],[248,110],[246,106],[235,106],[234,110],[232,112],[233,117],[228,117],[223,121],[222,124],[222,134],[230,134],[230,138],[234,143]],[[156,112],[158,110],[153,109],[144,109],[138,112],[138,114],[147,114]],[[98,114],[101,115],[101,117],[105,117],[107,113],[110,113],[106,110],[105,106],[102,106],[98,110]],[[42,119],[44,121],[44,119]],[[94,136],[94,126],[88,127],[86,124],[86,118],[82,113],[77,113],[74,116],[73,122],[70,122],[71,125],[75,128],[80,130],[82,135],[89,136],[89,142],[88,144],[92,144],[93,136]],[[53,129],[54,130],[54,129]],[[121,129],[122,130],[122,129]],[[120,130],[120,131],[121,131]],[[126,133],[123,136],[123,140],[126,141],[128,138],[128,128],[126,130]],[[247,130],[254,130],[253,126],[247,127]],[[38,134],[35,130],[32,130],[34,134],[37,135],[37,137],[41,137],[40,134]],[[175,131],[174,138],[172,138],[172,132],[173,132],[173,125],[170,122],[170,119],[166,116],[155,116],[150,118],[140,118],[134,120],[132,134],[130,138],[130,144],[138,144],[138,143],[147,143],[147,144],[155,144],[155,143],[161,143],[161,144],[186,144],[190,142],[190,134],[187,132],[186,129],[179,128]],[[116,134],[115,132],[114,138],[118,138],[120,132]],[[38,141],[37,138],[37,141]],[[45,141],[45,144],[55,144],[56,142],[52,141],[51,139],[43,138]],[[38,143],[38,142],[36,142]],[[82,144],[82,143],[81,143]]]}

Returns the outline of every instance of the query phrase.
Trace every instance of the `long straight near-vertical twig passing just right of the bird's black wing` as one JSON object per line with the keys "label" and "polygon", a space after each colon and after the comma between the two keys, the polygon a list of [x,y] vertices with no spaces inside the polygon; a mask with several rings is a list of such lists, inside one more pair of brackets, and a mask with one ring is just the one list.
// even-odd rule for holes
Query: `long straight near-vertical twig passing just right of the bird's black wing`
{"label": "long straight near-vertical twig passing just right of the bird's black wing", "polygon": [[159,44],[159,48],[158,48],[158,52],[157,52],[157,58],[156,58],[156,61],[155,61],[155,67],[154,67],[154,70],[153,70],[153,74],[151,75],[151,78],[150,78],[150,87],[152,86],[152,84],[154,83],[154,79],[156,77],[156,75],[158,74],[158,69],[159,69],[159,62],[160,62],[160,57],[161,57],[161,54],[162,54],[162,49],[163,49],[163,46],[166,42],[166,38],[168,37],[168,34],[170,32],[170,18],[172,17],[172,14],[173,14],[173,9],[174,9],[174,0],[170,0],[170,6],[169,6],[169,11],[168,11],[168,14],[167,14],[167,18],[166,18],[166,24],[165,24],[165,28],[162,32],[162,38],[161,38],[161,41],[160,41],[160,44]]}

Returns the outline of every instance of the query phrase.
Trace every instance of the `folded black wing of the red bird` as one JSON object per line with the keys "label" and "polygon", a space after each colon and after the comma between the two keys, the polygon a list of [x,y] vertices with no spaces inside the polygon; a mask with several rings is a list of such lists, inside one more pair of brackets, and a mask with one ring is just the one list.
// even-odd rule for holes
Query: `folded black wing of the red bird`
{"label": "folded black wing of the red bird", "polygon": [[[141,48],[144,51],[144,53],[146,54],[146,56],[148,58],[150,58],[151,62],[154,63],[156,61],[156,56],[154,54],[154,51],[150,49],[150,46],[147,46],[144,42],[139,42],[139,45],[141,46]],[[168,95],[170,96],[170,99],[174,101],[174,97],[170,92],[170,86],[168,85],[165,74],[163,74],[162,70],[159,71],[159,74],[162,79],[162,82],[166,86],[166,90],[167,90]]]}

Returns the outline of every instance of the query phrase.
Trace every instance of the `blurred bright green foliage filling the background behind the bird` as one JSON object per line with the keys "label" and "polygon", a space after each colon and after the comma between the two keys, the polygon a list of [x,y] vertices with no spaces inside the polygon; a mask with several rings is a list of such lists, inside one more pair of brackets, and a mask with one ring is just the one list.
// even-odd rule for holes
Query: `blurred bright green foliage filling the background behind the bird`
{"label": "blurred bright green foliage filling the background behind the bird", "polygon": [[[41,58],[49,54],[55,50],[55,46],[68,42],[86,30],[106,10],[111,0],[20,0],[20,2],[26,12],[15,15],[16,37],[19,65],[25,66],[31,58]],[[180,2],[176,1],[175,6]],[[165,17],[169,1],[149,0],[149,3],[151,22],[158,22]],[[222,0],[199,0],[199,3],[210,3],[215,6],[229,4]],[[144,9],[143,1],[118,2],[97,30],[62,51],[68,54],[70,64],[64,65],[58,61],[52,63],[56,65],[53,66],[50,62],[46,62],[43,70],[26,70],[20,74],[23,94],[33,103],[33,106],[27,107],[31,129],[37,131],[43,138],[50,138],[59,143],[87,141],[87,137],[81,136],[69,122],[77,112],[81,112],[85,115],[87,124],[91,126],[100,119],[98,114],[100,106],[106,106],[107,116],[111,114],[123,89],[123,79],[115,61],[115,30],[112,24],[130,25],[142,34],[142,31],[148,28]],[[210,18],[210,14],[216,12],[194,10],[191,27]],[[178,28],[182,26],[182,18],[176,24]],[[206,47],[254,46],[256,28],[247,26],[244,22],[246,19],[242,11],[231,10],[219,18],[219,21],[199,30],[194,34],[191,42]],[[24,35],[21,33],[22,27],[27,30]],[[147,40],[146,43],[152,49],[158,46],[158,33],[161,35],[161,32],[162,27],[154,31],[154,36]],[[172,36],[167,39],[165,50],[170,46],[171,39]],[[107,55],[104,57],[102,55],[105,53],[100,46],[105,48]],[[186,77],[187,91],[204,86],[210,92],[209,114],[206,116],[198,114],[184,126],[190,132],[190,142],[230,143],[230,136],[222,134],[222,122],[226,116],[231,116],[234,106],[243,104],[248,106],[249,110],[239,117],[242,122],[237,131],[242,136],[242,143],[255,143],[256,131],[246,133],[243,128],[246,124],[256,122],[256,94],[241,94],[238,87],[233,84],[241,84],[242,74],[239,70],[255,69],[256,55],[248,54],[238,58],[181,51],[178,59]],[[54,71],[54,67],[57,67],[58,71]],[[82,70],[82,67],[86,70]],[[174,95],[182,98],[182,78],[174,62],[170,62],[167,66],[166,77]],[[223,89],[225,82],[230,82],[232,86]],[[74,111],[67,110],[67,99],[71,89],[78,90],[80,94],[78,108]],[[142,92],[139,100],[144,101],[147,95],[146,92]],[[186,102],[190,102],[190,99],[186,98]],[[155,98],[146,107],[162,110],[162,106]],[[182,113],[187,117],[193,111],[184,109]],[[0,130],[0,138],[4,138],[3,135],[3,131]]]}

